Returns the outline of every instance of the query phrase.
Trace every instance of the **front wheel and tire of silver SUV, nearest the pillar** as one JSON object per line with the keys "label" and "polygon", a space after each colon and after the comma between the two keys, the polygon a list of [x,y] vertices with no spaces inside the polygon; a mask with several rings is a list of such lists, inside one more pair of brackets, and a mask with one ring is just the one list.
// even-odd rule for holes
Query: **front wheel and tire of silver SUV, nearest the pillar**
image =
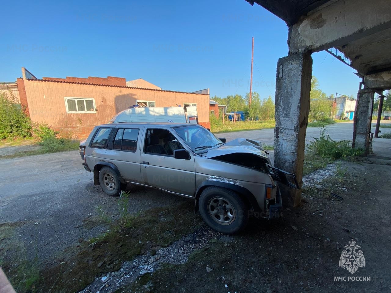
{"label": "front wheel and tire of silver SUV, nearest the pillar", "polygon": [[213,230],[224,234],[242,231],[248,222],[248,207],[230,189],[217,186],[205,188],[199,197],[199,212]]}

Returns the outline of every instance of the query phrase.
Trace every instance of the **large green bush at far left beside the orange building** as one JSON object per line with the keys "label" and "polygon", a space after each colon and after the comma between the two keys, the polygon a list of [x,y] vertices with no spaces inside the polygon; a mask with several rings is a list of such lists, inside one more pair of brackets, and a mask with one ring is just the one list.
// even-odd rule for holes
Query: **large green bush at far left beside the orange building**
{"label": "large green bush at far left beside the orange building", "polygon": [[11,93],[0,92],[0,139],[31,136],[30,118],[23,110]]}

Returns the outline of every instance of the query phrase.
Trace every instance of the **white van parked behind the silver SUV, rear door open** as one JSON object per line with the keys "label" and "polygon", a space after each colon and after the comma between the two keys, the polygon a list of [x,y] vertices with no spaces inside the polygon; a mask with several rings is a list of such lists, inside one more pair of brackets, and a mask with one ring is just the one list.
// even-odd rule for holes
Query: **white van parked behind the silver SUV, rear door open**
{"label": "white van parked behind the silver SUV, rear door open", "polygon": [[[187,114],[182,107],[134,107],[115,115],[109,123],[124,122],[170,122],[194,123],[197,119],[197,108],[186,107]],[[195,122],[197,123],[197,122]]]}

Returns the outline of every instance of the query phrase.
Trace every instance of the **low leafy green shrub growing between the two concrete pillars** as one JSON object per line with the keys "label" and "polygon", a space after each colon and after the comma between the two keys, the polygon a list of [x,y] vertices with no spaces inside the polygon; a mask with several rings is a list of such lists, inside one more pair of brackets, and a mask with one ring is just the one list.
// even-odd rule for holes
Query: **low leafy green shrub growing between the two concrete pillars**
{"label": "low leafy green shrub growing between the two concrete pillars", "polygon": [[325,133],[325,129],[321,130],[319,138],[314,138],[307,145],[308,149],[313,150],[321,157],[330,157],[331,159],[340,159],[356,155],[362,155],[364,150],[359,148],[352,148],[352,141],[342,140],[335,141]]}

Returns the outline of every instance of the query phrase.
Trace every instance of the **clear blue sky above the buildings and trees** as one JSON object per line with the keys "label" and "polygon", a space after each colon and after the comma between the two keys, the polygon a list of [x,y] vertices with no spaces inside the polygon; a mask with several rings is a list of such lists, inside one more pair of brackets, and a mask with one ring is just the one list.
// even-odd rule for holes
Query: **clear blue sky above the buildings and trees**
{"label": "clear blue sky above the buildings and trees", "polygon": [[[244,0],[4,2],[0,81],[21,67],[36,77],[143,78],[163,89],[225,97],[274,97],[276,64],[288,53],[285,22]],[[313,75],[328,95],[354,96],[359,78],[326,52],[312,54]]]}

